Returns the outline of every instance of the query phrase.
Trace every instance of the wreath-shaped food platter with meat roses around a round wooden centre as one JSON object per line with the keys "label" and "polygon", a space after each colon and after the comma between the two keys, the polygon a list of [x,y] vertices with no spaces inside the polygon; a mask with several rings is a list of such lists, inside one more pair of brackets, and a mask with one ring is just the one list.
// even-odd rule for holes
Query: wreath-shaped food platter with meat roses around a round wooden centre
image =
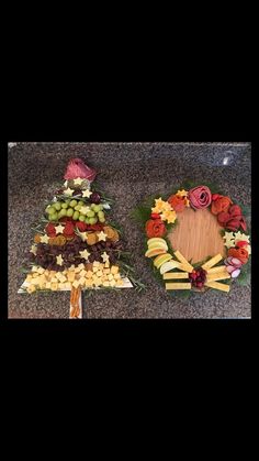
{"label": "wreath-shaped food platter with meat roses around a round wooden centre", "polygon": [[133,216],[144,227],[145,256],[166,290],[228,293],[234,281],[249,283],[250,237],[230,197],[207,185],[179,187],[147,199]]}

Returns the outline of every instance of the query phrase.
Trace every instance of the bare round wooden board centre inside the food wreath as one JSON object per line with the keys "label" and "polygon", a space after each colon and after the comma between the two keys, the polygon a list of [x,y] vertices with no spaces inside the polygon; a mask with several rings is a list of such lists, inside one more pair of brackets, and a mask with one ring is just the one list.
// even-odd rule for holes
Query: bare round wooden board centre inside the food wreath
{"label": "bare round wooden board centre inside the food wreath", "polygon": [[168,239],[173,250],[192,263],[215,256],[221,253],[225,257],[225,246],[219,231],[223,229],[209,208],[194,211],[185,208],[177,213],[178,226],[169,233]]}

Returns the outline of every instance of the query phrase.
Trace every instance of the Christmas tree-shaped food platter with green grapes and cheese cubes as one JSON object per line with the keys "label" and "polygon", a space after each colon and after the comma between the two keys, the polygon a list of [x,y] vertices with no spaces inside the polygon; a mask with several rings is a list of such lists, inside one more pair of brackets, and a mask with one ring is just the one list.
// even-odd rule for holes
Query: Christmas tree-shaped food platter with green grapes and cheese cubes
{"label": "Christmas tree-shaped food platter with green grapes and cheese cubes", "polygon": [[134,278],[121,232],[109,223],[112,200],[95,189],[95,176],[80,158],[70,160],[65,184],[32,228],[27,275],[18,292],[70,290],[69,318],[82,318],[82,290],[144,287]]}

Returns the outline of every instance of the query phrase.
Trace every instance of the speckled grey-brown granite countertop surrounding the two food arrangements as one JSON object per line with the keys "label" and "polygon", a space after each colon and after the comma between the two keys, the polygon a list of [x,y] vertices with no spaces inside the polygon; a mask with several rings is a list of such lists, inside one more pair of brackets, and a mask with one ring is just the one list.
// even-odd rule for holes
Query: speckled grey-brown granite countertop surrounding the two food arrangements
{"label": "speckled grey-brown granite countertop surrounding the two food arrangements", "polygon": [[124,229],[132,263],[147,290],[83,295],[83,318],[250,318],[250,286],[172,298],[157,284],[143,254],[143,234],[131,210],[145,197],[183,179],[214,180],[234,201],[250,206],[249,143],[18,143],[9,149],[9,318],[68,318],[69,292],[19,295],[19,267],[32,244],[31,223],[53,197],[69,158],[98,169],[116,198],[113,218]]}

